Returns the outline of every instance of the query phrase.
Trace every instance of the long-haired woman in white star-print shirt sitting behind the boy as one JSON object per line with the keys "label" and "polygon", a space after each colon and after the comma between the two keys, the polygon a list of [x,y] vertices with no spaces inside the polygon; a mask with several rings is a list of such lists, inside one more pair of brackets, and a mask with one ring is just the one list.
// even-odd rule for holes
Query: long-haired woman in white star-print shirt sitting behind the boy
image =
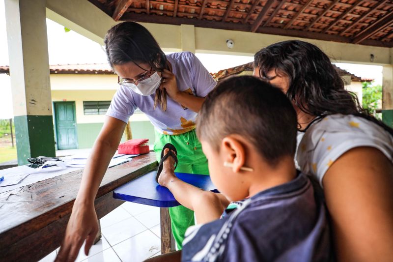
{"label": "long-haired woman in white star-print shirt sitting behind the boy", "polygon": [[393,130],[344,89],[316,46],[284,41],[254,56],[254,76],[291,99],[299,123],[296,160],[328,206],[339,261],[393,258]]}

